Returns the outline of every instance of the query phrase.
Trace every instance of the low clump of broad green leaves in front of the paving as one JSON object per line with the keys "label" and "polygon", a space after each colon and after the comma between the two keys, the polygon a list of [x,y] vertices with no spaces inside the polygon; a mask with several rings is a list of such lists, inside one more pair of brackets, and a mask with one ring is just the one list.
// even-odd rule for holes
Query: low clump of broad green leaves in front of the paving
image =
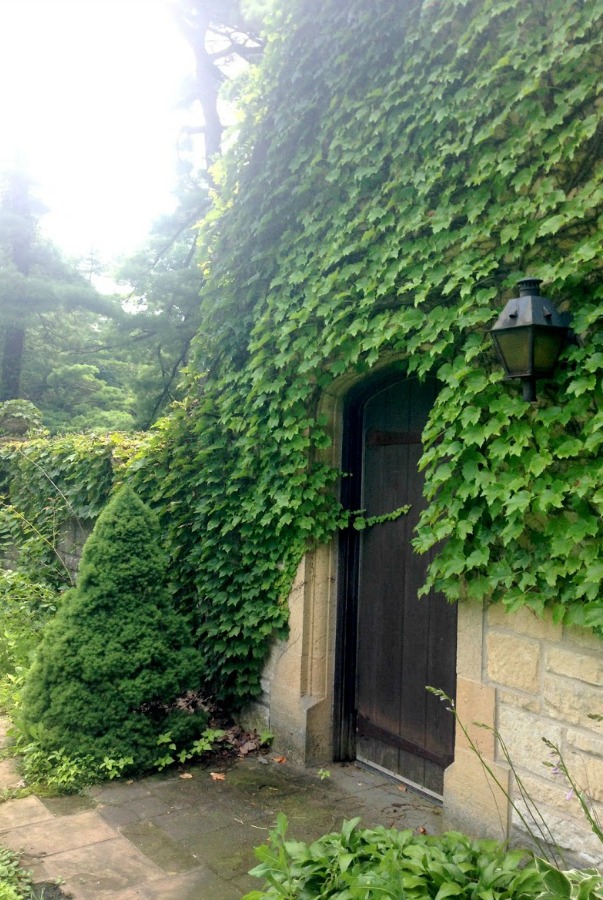
{"label": "low clump of broad green leaves in front of the paving", "polygon": [[266,887],[245,900],[535,900],[543,879],[522,851],[498,841],[473,841],[450,831],[439,837],[390,828],[360,829],[359,819],[311,844],[287,839],[279,815],[268,846],[251,870]]}

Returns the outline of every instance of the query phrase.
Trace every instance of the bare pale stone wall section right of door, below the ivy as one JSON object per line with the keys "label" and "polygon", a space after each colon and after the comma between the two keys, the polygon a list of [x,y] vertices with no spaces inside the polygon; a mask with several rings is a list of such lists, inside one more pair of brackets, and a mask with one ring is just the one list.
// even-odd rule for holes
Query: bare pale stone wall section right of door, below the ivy
{"label": "bare pale stone wall section right of door, below the ivy", "polygon": [[[570,861],[600,865],[603,847],[577,798],[570,795],[565,777],[552,767],[554,758],[543,738],[559,747],[603,819],[603,722],[592,718],[603,716],[603,641],[581,629],[564,629],[550,618],[538,619],[525,609],[509,615],[492,606],[482,614],[461,606],[459,612],[457,711],[499,786],[484,772],[459,729],[455,762],[446,773],[448,822],[520,844],[529,842],[527,822],[530,831],[540,830],[564,848]],[[504,741],[512,767],[493,728]],[[517,776],[534,801],[532,811]]]}

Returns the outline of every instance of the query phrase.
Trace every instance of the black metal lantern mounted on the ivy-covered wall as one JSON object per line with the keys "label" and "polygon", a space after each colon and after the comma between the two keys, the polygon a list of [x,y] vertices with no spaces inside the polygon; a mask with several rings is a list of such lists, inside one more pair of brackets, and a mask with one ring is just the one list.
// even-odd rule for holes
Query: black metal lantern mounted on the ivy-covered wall
{"label": "black metal lantern mounted on the ivy-covered wall", "polygon": [[536,399],[536,379],[550,378],[570,342],[570,315],[558,313],[540,294],[540,278],[522,278],[490,331],[507,378],[520,378],[523,399]]}

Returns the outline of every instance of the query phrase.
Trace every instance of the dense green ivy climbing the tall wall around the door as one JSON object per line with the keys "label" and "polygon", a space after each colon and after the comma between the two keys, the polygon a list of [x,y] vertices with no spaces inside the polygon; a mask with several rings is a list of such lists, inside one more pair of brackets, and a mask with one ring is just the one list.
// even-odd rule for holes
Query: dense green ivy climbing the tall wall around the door
{"label": "dense green ivy climbing the tall wall around the door", "polygon": [[[201,226],[188,397],[130,467],[208,685],[257,693],[301,556],[345,521],[318,398],[386,356],[443,385],[430,582],[603,632],[601,3],[280,6]],[[486,334],[526,274],[582,341],[533,405]]]}

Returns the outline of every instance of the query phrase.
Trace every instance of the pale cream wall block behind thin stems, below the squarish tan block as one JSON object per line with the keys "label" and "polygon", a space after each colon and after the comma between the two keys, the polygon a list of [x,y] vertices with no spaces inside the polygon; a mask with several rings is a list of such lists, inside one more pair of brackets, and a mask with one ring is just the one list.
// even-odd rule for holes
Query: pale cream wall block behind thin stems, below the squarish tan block
{"label": "pale cream wall block behind thin stems, below the squarish tan block", "polygon": [[[498,730],[513,765],[537,775],[546,772],[544,762],[549,753],[542,739],[546,738],[558,745],[563,736],[561,724],[502,704],[498,710]],[[500,748],[498,753],[502,753]]]}

